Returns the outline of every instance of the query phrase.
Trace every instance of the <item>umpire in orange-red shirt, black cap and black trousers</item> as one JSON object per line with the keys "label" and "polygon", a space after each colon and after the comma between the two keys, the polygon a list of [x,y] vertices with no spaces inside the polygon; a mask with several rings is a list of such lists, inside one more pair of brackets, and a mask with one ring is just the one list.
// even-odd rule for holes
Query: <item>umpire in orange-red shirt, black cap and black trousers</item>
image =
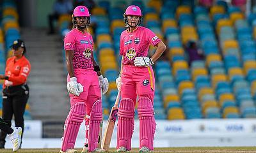
{"label": "umpire in orange-red shirt, black cap and black trousers", "polygon": [[[29,88],[26,84],[30,63],[25,57],[26,47],[22,40],[13,41],[13,57],[6,61],[5,74],[0,75],[3,84],[3,120],[10,127],[14,114],[15,126],[24,131],[24,112],[29,98]],[[20,131],[19,131],[20,132]],[[8,131],[10,133],[10,131]],[[6,131],[0,132],[0,148],[4,148]],[[22,138],[22,134],[21,134]],[[22,140],[20,139],[20,143]]]}

